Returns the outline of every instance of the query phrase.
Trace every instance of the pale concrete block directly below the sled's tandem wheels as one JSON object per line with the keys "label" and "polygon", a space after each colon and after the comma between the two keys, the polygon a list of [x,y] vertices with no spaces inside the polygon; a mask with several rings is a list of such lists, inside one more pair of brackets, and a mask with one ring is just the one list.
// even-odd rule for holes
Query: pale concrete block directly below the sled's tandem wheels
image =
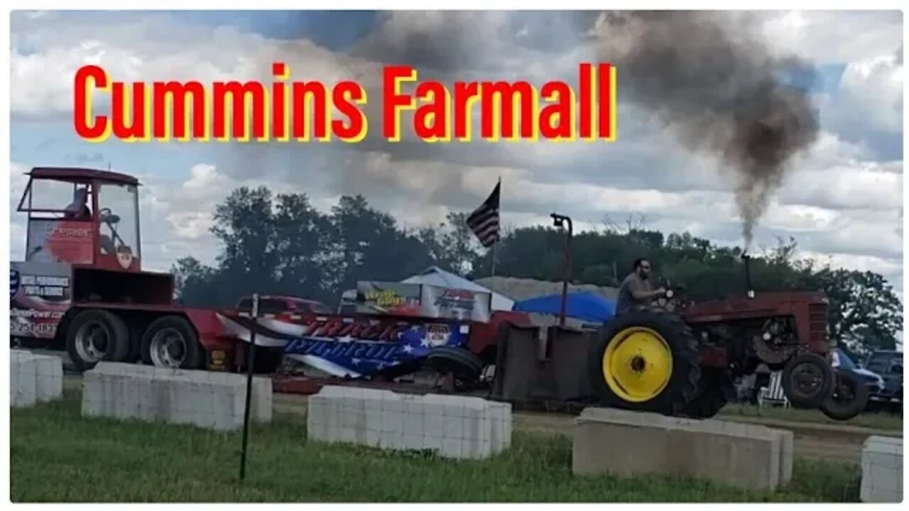
{"label": "pale concrete block directly below the sled's tandem wheels", "polygon": [[[244,422],[246,376],[102,362],[83,376],[82,396],[83,416],[236,430]],[[267,377],[253,378],[250,418],[271,421]]]}

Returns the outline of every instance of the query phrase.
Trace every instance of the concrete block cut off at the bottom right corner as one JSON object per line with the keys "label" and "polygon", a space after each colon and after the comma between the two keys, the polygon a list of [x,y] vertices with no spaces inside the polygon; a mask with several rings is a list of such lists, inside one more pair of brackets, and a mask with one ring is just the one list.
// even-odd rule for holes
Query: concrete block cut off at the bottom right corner
{"label": "concrete block cut off at the bottom right corner", "polygon": [[903,502],[903,439],[869,436],[862,447],[862,502]]}

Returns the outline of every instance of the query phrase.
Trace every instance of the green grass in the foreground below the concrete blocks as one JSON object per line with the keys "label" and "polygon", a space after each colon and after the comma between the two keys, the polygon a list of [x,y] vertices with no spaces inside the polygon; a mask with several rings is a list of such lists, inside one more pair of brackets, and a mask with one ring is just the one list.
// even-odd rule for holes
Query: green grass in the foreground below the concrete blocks
{"label": "green grass in the foreground below the concrete blocks", "polygon": [[571,440],[514,432],[494,459],[453,461],[305,441],[299,416],[241,435],[79,416],[79,394],[15,409],[14,502],[691,502],[852,501],[857,466],[796,460],[783,490],[747,492],[681,478],[575,477]]}

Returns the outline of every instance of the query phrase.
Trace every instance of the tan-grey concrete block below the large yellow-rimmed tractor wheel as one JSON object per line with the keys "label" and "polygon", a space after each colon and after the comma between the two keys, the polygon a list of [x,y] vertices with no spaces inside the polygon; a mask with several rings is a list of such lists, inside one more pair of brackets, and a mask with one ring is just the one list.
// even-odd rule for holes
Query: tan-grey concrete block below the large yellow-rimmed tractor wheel
{"label": "tan-grey concrete block below the large yellow-rimmed tractor wheel", "polygon": [[766,426],[586,408],[575,420],[576,475],[682,475],[746,489],[792,478],[793,434]]}

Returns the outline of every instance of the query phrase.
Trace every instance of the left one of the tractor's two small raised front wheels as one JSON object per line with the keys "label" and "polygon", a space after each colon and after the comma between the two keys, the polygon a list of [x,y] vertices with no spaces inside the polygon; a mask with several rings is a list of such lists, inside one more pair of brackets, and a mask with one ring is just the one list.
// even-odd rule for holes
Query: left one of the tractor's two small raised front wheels
{"label": "left one of the tractor's two small raised front wheels", "polygon": [[819,408],[834,391],[834,368],[823,356],[802,353],[783,368],[783,391],[794,408]]}

